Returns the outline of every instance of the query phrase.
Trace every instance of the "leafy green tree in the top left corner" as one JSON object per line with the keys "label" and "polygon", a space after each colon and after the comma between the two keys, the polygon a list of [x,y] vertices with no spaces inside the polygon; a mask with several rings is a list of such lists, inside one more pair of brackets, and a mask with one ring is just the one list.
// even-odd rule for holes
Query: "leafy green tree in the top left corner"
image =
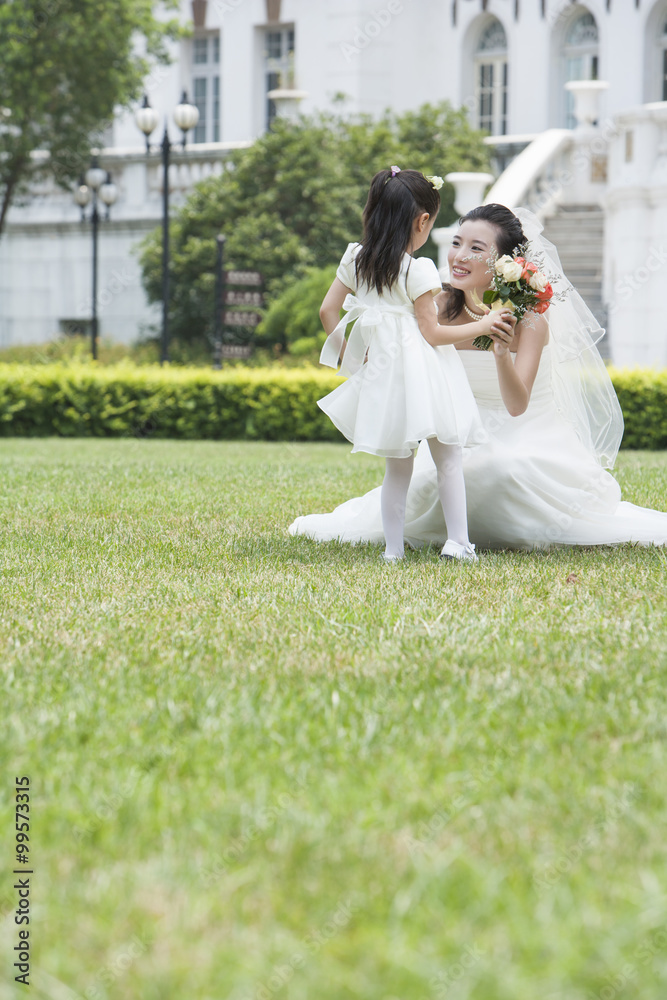
{"label": "leafy green tree in the top left corner", "polygon": [[[0,0],[0,233],[17,195],[40,172],[68,187],[90,148],[135,100],[151,62],[167,61],[176,20],[153,0]],[[178,0],[164,0],[178,8]],[[137,54],[143,38],[144,55]],[[35,150],[49,156],[37,162]]]}

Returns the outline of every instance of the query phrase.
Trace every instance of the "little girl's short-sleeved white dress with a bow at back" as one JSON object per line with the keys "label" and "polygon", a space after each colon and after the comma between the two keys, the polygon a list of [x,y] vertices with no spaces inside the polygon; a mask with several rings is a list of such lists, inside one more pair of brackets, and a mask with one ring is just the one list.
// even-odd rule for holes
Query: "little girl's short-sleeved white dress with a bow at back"
{"label": "little girl's short-sleeved white dress with a bow at back", "polygon": [[341,373],[350,377],[318,406],[352,442],[352,451],[407,458],[429,437],[459,445],[486,440],[458,352],[449,345],[431,347],[415,317],[415,300],[442,290],[435,264],[405,254],[391,291],[378,295],[357,285],[359,249],[360,244],[350,243],[338,267],[337,277],[354,295],[347,296],[347,315],[321,358],[336,365],[345,326],[354,321],[341,366]]}

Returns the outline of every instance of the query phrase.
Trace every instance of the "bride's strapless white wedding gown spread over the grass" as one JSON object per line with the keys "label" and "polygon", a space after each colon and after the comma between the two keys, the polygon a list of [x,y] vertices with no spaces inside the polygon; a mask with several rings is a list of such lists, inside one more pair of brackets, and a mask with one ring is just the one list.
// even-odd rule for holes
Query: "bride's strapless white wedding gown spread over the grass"
{"label": "bride's strapless white wedding gown spread over the grass", "polygon": [[[544,348],[525,413],[502,402],[492,352],[461,351],[489,441],[467,449],[464,472],[470,539],[478,548],[667,544],[667,513],[621,500],[618,483],[559,413],[552,358]],[[327,514],[298,517],[292,535],[316,541],[383,542],[380,487]],[[436,473],[426,442],[415,461],[405,515],[412,546],[447,537]]]}

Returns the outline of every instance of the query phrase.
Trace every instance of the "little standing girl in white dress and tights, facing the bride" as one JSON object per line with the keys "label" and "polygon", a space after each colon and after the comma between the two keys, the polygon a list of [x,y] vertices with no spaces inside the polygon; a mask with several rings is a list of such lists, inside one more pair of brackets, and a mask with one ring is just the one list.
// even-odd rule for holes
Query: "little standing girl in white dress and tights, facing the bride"
{"label": "little standing girl in white dress and tights, facing the bride", "polygon": [[[403,558],[405,502],[414,449],[428,440],[447,524],[444,558],[475,562],[468,538],[462,447],[485,435],[454,344],[500,330],[509,312],[477,323],[438,324],[441,291],[432,260],[413,258],[429,237],[440,208],[440,178],[392,167],[371,182],[361,243],[351,243],[327,292],[320,317],[327,340],[320,361],[340,367],[347,381],[318,401],[353,444],[386,459],[381,509],[383,558]],[[346,315],[339,321],[340,310]],[[345,344],[345,331],[354,323]]]}

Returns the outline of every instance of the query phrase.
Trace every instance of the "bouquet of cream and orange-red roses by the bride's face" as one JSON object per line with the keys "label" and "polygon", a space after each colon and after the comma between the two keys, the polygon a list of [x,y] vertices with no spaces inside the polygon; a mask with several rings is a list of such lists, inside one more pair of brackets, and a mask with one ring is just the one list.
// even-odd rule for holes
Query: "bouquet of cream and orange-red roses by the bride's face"
{"label": "bouquet of cream and orange-red roses by the bride's face", "polygon": [[[521,256],[522,249],[517,248],[516,256],[506,253],[497,260],[489,260],[493,287],[484,292],[484,305],[491,306],[493,312],[510,309],[518,320],[529,311],[546,312],[554,295],[549,275],[541,271],[538,264]],[[482,303],[474,293],[473,298],[477,306],[482,308]],[[490,351],[493,347],[493,341],[486,336],[475,337],[472,343],[480,351]]]}

